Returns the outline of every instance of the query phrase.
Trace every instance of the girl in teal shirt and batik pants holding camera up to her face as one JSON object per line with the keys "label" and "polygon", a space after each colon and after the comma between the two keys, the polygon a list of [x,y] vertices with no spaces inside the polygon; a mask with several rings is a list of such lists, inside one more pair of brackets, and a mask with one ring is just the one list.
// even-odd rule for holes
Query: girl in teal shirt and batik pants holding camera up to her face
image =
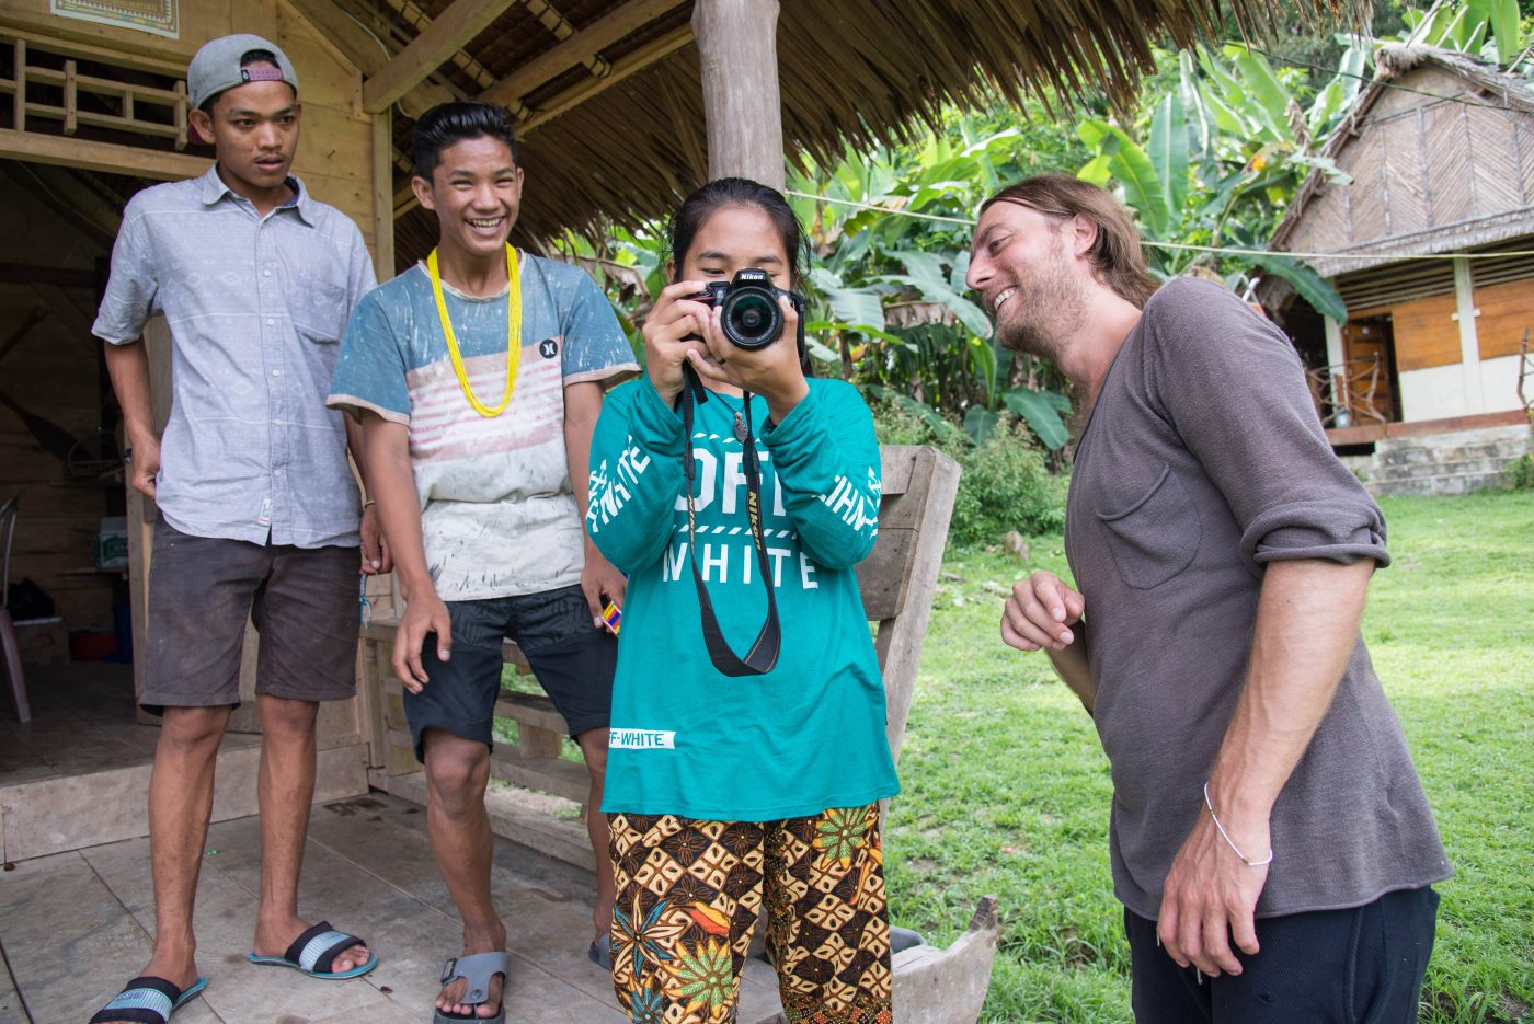
{"label": "girl in teal shirt and batik pants holding camera up to her face", "polygon": [[733,1019],[765,901],[787,1019],[887,1022],[877,802],[899,783],[853,570],[877,537],[873,417],[805,379],[787,294],[778,339],[741,348],[706,290],[749,268],[799,287],[781,193],[713,181],[670,244],[647,376],[607,397],[591,455],[588,532],[629,575],[601,808],[614,986],[634,1021]]}

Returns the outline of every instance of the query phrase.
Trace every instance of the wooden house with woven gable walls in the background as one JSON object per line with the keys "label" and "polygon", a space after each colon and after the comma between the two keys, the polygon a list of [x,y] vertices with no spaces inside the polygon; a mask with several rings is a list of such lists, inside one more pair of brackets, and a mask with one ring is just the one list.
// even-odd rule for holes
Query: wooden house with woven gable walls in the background
{"label": "wooden house with woven gable walls in the background", "polygon": [[1270,242],[1336,287],[1347,322],[1276,277],[1258,297],[1370,483],[1465,491],[1528,449],[1534,89],[1420,46],[1378,64],[1325,150],[1347,179],[1312,172]]}

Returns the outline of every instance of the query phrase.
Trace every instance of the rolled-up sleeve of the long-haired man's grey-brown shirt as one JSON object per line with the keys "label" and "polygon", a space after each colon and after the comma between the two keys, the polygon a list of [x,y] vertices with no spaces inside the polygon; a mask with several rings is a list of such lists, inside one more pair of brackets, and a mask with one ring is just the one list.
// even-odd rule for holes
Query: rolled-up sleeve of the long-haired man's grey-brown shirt
{"label": "rolled-up sleeve of the long-haired man's grey-brown shirt", "polygon": [[1332,451],[1289,339],[1220,285],[1166,287],[1201,291],[1146,325],[1146,394],[1229,503],[1243,558],[1388,566],[1384,515]]}

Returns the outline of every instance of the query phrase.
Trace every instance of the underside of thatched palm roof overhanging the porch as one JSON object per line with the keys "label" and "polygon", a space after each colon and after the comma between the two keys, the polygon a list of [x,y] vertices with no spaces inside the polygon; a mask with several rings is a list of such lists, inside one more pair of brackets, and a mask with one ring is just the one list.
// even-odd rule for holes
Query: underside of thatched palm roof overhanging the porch
{"label": "underside of thatched palm roof overhanging the porch", "polygon": [[[330,0],[365,21],[391,49],[420,34],[451,0]],[[426,83],[437,98],[508,98],[525,118],[529,176],[522,215],[528,236],[591,230],[606,218],[635,222],[667,212],[701,182],[707,153],[692,0],[520,0]],[[1232,0],[1255,23],[1269,0]],[[1302,0],[1324,12],[1350,0]],[[626,9],[652,11],[623,38],[540,81],[560,38]],[[551,14],[557,11],[557,14]],[[560,28],[563,17],[563,28]],[[945,103],[988,95],[1019,100],[1046,86],[1134,95],[1150,67],[1150,43],[1189,43],[1215,28],[1212,0],[784,0],[778,25],[784,144],[788,152],[841,156],[848,143],[891,139]],[[569,52],[569,51],[566,51]],[[600,75],[611,87],[597,87]],[[411,104],[400,104],[411,109]],[[419,112],[419,100],[414,107]],[[403,150],[413,118],[394,118]],[[422,212],[408,212],[400,170],[396,245],[410,262],[436,239]]]}

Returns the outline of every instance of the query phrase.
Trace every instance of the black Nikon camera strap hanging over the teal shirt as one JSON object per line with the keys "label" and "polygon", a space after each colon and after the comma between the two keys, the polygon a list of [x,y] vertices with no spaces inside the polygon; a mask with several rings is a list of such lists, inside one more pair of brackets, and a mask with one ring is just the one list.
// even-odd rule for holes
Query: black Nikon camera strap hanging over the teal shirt
{"label": "black Nikon camera strap hanging over the teal shirt", "polygon": [[752,648],[746,658],[739,658],[730,650],[729,641],[719,630],[719,619],[713,615],[713,601],[709,598],[709,586],[698,570],[698,535],[696,510],[693,509],[693,481],[698,477],[696,460],[692,454],[692,420],[693,405],[709,400],[709,389],[703,386],[696,371],[683,365],[681,386],[681,425],[686,440],[683,445],[681,471],[687,478],[687,558],[692,563],[692,583],[698,587],[698,609],[703,613],[703,642],[709,648],[709,661],[726,676],[761,676],[773,670],[778,664],[778,650],[782,645],[782,635],[778,627],[778,598],[772,586],[772,558],[767,555],[767,538],[762,535],[762,474],[756,458],[756,435],[752,429],[752,392],[744,392],[744,420],[735,415],[735,438],[744,449],[741,471],[746,474],[746,507],[752,521],[752,541],[756,544],[756,566],[762,586],[767,587],[767,621],[752,641]]}

